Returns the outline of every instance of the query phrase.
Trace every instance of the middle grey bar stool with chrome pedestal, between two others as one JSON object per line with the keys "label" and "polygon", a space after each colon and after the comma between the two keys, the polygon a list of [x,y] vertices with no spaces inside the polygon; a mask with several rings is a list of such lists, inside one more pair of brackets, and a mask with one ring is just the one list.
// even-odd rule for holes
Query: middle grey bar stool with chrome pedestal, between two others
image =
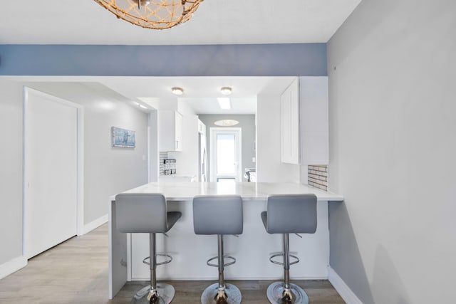
{"label": "middle grey bar stool with chrome pedestal, between two others", "polygon": [[[242,198],[239,195],[195,196],[193,198],[193,228],[195,234],[215,235],[218,240],[218,256],[209,258],[207,265],[219,268],[219,283],[209,285],[201,295],[202,304],[239,304],[242,295],[239,288],[224,282],[224,267],[236,259],[223,253],[224,234],[242,234]],[[229,259],[228,263],[224,259]],[[217,260],[217,263],[211,261]]]}

